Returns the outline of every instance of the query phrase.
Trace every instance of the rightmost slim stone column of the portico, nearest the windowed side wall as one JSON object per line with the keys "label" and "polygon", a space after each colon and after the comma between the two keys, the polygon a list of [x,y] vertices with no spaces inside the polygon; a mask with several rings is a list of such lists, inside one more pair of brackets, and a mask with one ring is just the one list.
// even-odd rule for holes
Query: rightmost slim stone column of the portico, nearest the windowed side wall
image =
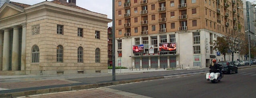
{"label": "rightmost slim stone column of the portico, nearest the windowed side wall", "polygon": [[26,23],[22,25],[21,70],[26,68]]}

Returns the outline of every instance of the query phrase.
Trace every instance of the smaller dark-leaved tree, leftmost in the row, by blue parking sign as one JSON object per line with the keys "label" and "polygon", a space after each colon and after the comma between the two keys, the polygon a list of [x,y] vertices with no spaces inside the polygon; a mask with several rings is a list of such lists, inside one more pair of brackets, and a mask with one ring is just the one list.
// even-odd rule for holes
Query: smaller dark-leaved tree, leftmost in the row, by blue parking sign
{"label": "smaller dark-leaved tree, leftmost in the row, by blue parking sign", "polygon": [[229,46],[225,37],[217,37],[217,40],[214,40],[214,50],[220,51],[220,54],[224,55],[224,60],[226,61],[226,54],[228,54]]}

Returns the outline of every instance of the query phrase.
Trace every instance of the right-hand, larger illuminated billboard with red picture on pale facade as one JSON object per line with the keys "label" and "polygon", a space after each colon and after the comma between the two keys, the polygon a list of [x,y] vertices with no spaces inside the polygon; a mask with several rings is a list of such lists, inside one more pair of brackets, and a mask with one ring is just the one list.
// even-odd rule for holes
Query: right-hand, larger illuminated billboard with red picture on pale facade
{"label": "right-hand, larger illuminated billboard with red picture on pale facade", "polygon": [[176,43],[159,43],[159,52],[176,52]]}

